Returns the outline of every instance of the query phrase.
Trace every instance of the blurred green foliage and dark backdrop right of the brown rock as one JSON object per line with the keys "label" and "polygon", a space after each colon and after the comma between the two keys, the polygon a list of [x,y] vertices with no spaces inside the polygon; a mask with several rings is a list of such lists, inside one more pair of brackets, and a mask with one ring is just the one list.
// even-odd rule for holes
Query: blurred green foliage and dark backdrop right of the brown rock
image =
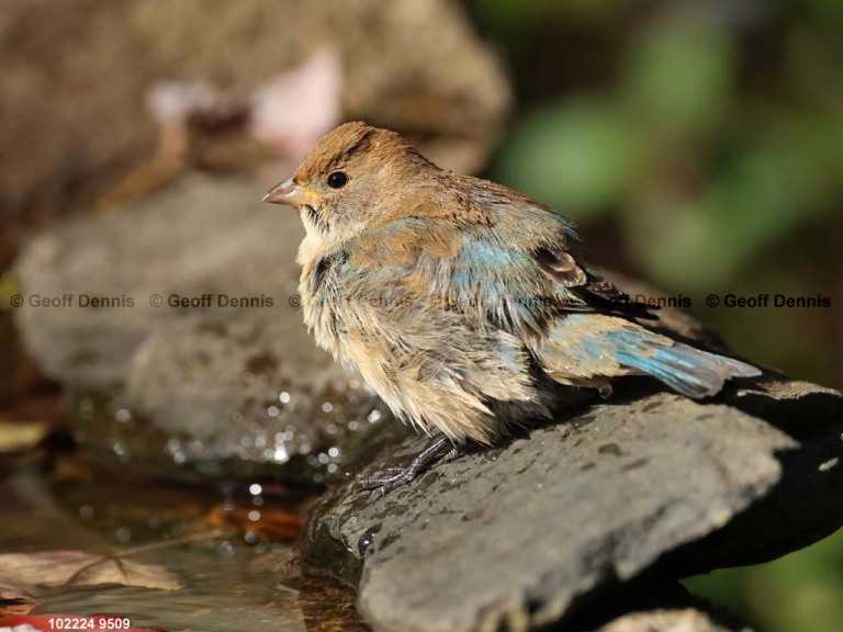
{"label": "blurred green foliage and dark backdrop right of the brown rock", "polygon": [[[593,260],[690,296],[735,351],[843,386],[843,2],[470,7],[519,99],[490,177],[573,216]],[[839,630],[843,535],[688,586],[760,630]]]}

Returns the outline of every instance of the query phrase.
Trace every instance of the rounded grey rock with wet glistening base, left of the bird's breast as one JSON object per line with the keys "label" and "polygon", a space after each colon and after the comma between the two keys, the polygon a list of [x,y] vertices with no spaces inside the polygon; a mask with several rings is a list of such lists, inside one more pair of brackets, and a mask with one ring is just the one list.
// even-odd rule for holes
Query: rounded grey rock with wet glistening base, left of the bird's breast
{"label": "rounded grey rock with wet glistening base, left of the bird's breast", "polygon": [[[263,193],[194,177],[22,253],[16,325],[97,454],[158,474],[318,482],[386,416],[306,332],[301,222]],[[92,306],[102,298],[113,306]]]}

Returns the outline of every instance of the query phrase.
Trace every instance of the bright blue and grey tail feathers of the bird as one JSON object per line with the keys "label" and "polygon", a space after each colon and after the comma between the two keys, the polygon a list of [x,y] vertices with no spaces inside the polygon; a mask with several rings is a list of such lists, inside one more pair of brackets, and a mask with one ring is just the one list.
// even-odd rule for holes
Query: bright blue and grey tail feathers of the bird
{"label": "bright blue and grey tail feathers of the bird", "polygon": [[621,347],[615,360],[623,366],[652,375],[686,397],[709,397],[720,392],[732,377],[755,377],[761,371],[732,358],[726,358],[682,342],[661,345],[653,337],[639,339],[629,350]]}

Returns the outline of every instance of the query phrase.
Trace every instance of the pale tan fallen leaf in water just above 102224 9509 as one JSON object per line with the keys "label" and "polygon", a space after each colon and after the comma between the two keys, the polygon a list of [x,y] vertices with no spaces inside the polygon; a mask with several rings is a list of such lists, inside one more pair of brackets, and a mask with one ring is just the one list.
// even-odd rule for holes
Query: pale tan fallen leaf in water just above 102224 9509
{"label": "pale tan fallen leaf in water just above 102224 9509", "polygon": [[[0,588],[12,599],[31,598],[37,586],[121,584],[176,590],[181,587],[161,566],[83,551],[7,553],[0,555]],[[14,595],[18,595],[16,597]]]}

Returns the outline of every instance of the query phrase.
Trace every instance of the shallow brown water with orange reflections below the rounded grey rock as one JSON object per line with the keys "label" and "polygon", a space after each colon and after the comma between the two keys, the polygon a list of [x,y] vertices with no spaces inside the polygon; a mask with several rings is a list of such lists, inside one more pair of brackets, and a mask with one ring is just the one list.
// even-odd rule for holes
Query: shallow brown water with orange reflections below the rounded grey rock
{"label": "shallow brown water with orange reflections below the rounded grey rock", "polygon": [[60,580],[30,589],[31,614],[113,614],[168,632],[367,630],[350,590],[295,560],[292,539],[308,499],[272,490],[175,485],[74,454],[19,460],[0,469],[0,554],[82,551],[143,565],[147,583],[175,577],[181,586]]}

